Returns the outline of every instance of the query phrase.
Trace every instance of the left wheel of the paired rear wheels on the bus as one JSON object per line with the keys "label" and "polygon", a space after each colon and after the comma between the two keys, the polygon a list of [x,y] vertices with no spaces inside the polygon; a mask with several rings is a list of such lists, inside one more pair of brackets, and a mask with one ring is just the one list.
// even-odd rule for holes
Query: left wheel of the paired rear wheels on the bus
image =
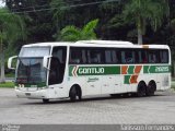
{"label": "left wheel of the paired rear wheels on the bus", "polygon": [[147,85],[144,82],[140,82],[138,84],[138,92],[137,92],[137,96],[138,97],[143,97],[145,96],[145,88],[147,88]]}

